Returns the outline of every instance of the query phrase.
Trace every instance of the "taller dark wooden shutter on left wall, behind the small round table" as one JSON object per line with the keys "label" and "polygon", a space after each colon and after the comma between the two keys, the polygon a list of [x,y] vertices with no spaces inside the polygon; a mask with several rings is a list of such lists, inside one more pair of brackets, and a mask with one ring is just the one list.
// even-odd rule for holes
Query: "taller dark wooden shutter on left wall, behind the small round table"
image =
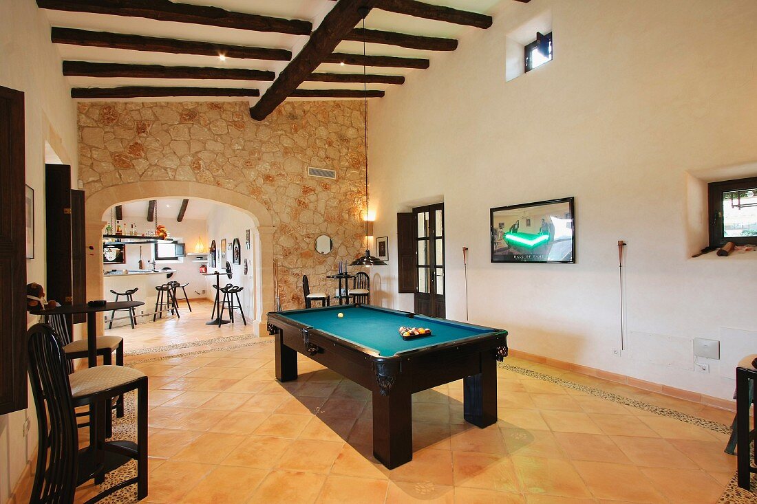
{"label": "taller dark wooden shutter on left wall, behind the small round table", "polygon": [[[48,300],[73,303],[71,257],[71,167],[45,165],[45,226],[47,229]],[[71,334],[71,333],[69,333]]]}

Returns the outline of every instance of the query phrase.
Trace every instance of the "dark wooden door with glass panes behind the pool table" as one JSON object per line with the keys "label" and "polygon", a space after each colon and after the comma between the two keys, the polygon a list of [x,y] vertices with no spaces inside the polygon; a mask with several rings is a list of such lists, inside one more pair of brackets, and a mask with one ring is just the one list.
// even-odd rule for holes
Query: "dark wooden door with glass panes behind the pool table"
{"label": "dark wooden door with glass panes behind the pool table", "polygon": [[444,204],[413,208],[416,226],[415,311],[444,318]]}

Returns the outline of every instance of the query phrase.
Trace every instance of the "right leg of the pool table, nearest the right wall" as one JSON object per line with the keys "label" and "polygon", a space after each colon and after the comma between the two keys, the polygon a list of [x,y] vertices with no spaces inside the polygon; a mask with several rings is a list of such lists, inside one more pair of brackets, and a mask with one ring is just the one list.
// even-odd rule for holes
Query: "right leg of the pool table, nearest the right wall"
{"label": "right leg of the pool table, nearest the right wall", "polygon": [[481,372],[463,379],[463,416],[484,428],[497,423],[497,361],[481,353]]}

